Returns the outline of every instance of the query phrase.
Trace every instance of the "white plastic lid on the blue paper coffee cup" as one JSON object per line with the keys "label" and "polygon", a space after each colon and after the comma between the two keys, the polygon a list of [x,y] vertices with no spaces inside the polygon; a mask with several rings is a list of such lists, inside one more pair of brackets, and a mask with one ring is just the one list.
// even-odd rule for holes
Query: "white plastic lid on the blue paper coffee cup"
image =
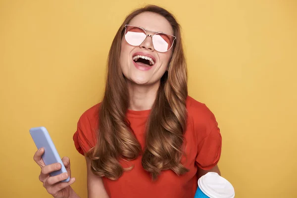
{"label": "white plastic lid on the blue paper coffee cup", "polygon": [[232,184],[215,172],[208,172],[198,179],[200,190],[210,198],[234,198]]}

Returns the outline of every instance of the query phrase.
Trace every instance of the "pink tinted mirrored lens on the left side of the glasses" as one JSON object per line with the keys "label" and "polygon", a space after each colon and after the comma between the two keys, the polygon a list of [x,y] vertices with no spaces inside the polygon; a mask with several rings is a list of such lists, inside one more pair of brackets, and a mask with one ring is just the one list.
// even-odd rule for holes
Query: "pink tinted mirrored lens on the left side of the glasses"
{"label": "pink tinted mirrored lens on the left side of the glasses", "polygon": [[143,29],[135,26],[126,26],[125,39],[131,46],[139,46],[147,38]]}

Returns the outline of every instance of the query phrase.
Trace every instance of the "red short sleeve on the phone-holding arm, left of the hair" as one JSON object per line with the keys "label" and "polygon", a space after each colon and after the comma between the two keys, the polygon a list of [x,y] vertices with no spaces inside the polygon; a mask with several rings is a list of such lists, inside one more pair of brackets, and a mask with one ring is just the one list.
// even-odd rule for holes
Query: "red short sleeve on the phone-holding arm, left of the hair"
{"label": "red short sleeve on the phone-holding arm, left of the hair", "polygon": [[85,155],[86,152],[95,147],[97,142],[96,129],[98,128],[98,122],[96,122],[95,118],[90,117],[91,113],[89,111],[86,111],[80,117],[77,123],[77,130],[73,135],[75,148],[82,155]]}

